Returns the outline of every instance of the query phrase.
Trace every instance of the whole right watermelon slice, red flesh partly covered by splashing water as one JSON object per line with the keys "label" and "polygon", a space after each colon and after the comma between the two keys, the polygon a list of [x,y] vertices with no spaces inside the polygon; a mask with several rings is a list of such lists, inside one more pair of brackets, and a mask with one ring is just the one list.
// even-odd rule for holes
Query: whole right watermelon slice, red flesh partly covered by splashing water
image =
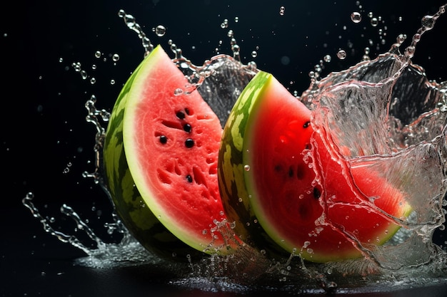
{"label": "whole right watermelon slice, red flesh partly covered by splashing water", "polygon": [[411,212],[405,194],[348,165],[322,135],[273,75],[260,72],[243,90],[224,128],[219,183],[244,240],[327,262],[368,254],[398,230],[393,219]]}

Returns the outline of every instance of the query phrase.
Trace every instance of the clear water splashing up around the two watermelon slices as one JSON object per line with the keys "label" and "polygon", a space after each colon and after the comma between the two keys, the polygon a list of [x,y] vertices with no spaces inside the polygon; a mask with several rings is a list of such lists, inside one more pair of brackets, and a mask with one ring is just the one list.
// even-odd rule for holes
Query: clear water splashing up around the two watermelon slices
{"label": "clear water splashing up around the two watermelon slices", "polygon": [[[431,241],[433,230],[443,226],[445,220],[446,200],[443,199],[443,194],[446,192],[446,184],[443,166],[446,164],[446,148],[443,140],[445,140],[444,126],[447,114],[446,88],[442,83],[428,82],[422,69],[411,63],[416,43],[423,33],[433,28],[436,19],[445,11],[445,7],[441,6],[434,16],[423,18],[423,26],[413,36],[411,45],[403,54],[399,52],[399,48],[406,40],[406,36],[402,35],[396,38],[396,43],[393,44],[389,53],[373,61],[370,61],[368,56],[369,50],[365,49],[367,57],[363,59],[364,61],[347,71],[331,73],[320,80],[322,68],[318,67],[311,75],[311,86],[299,97],[313,110],[317,131],[323,135],[326,131],[323,131],[322,127],[331,127],[329,132],[346,135],[337,141],[329,139],[326,144],[348,147],[348,151],[340,151],[341,155],[338,157],[350,162],[352,167],[369,166],[378,172],[385,172],[385,177],[394,184],[399,182],[396,179],[396,172],[401,172],[403,168],[410,168],[406,174],[413,174],[412,178],[416,178],[414,175],[419,175],[421,181],[426,183],[421,188],[419,184],[398,185],[405,188],[406,192],[413,193],[411,202],[418,211],[406,222],[398,222],[405,228],[398,231],[385,246],[371,247],[361,244],[360,247],[365,249],[368,259],[343,261],[343,263],[309,264],[303,262],[296,254],[291,254],[286,259],[268,259],[265,252],[242,245],[238,254],[231,256],[212,255],[199,261],[188,258],[186,263],[173,264],[146,251],[131,237],[115,213],[112,214],[112,222],[106,224],[105,227],[109,230],[109,234],[118,232],[123,235],[123,239],[119,244],[106,244],[71,207],[66,205],[61,207],[61,213],[73,219],[76,226],[94,241],[95,246],[92,248],[79,241],[76,236],[53,229],[51,222],[42,217],[32,203],[34,197],[32,193],[26,194],[23,203],[34,217],[39,219],[46,232],[86,253],[87,256],[76,260],[76,264],[97,268],[141,264],[149,264],[154,269],[163,267],[161,271],[174,275],[168,280],[173,286],[199,288],[204,291],[283,290],[289,293],[321,293],[322,291],[346,293],[389,291],[408,286],[425,286],[426,283],[446,283],[446,251]],[[136,23],[135,18],[126,14],[124,10],[119,11],[119,16],[123,18],[126,26],[138,34],[144,48],[144,55],[150,53],[154,46],[141,26]],[[371,21],[376,24],[378,20],[373,19],[371,17]],[[224,28],[228,28],[228,21]],[[194,66],[182,55],[181,49],[173,41],[169,42],[171,51],[174,53],[174,63],[186,73],[191,83],[187,88],[179,88],[176,91],[188,93],[198,90],[208,100],[213,110],[216,110],[222,125],[234,100],[257,72],[256,64],[244,65],[240,62],[238,54],[240,48],[233,36],[234,33],[228,31],[233,56],[219,55],[206,61],[202,66]],[[331,56],[325,56],[323,61],[329,63]],[[319,66],[322,65],[322,63],[319,64]],[[81,72],[80,65],[76,64],[74,67],[75,69],[79,67],[79,72]],[[219,80],[222,79],[228,82],[226,88],[221,88],[219,84]],[[422,85],[424,88],[414,92],[406,84],[409,80],[417,80],[417,85]],[[375,128],[378,120],[383,120],[386,131],[381,132],[386,132],[386,137],[370,135],[374,141],[358,142],[356,141],[358,137],[352,137],[353,134],[358,133],[358,127],[346,127],[346,123],[351,122],[345,121],[343,125],[340,125],[340,122],[336,120],[345,116],[343,110],[346,111],[346,109],[339,107],[346,105],[346,101],[341,98],[353,98],[351,95],[356,89],[361,89],[364,94],[373,95],[375,98],[382,91],[388,92],[386,95],[388,101],[375,103],[378,106],[376,106],[377,111],[368,115],[363,114],[357,118],[357,122],[352,122],[353,126],[366,123]],[[347,97],[346,93],[350,95]],[[340,96],[337,97],[334,94]],[[332,100],[334,97],[338,100]],[[216,98],[225,98],[225,100],[216,100]],[[428,98],[428,100],[421,102],[419,98]],[[84,172],[83,175],[93,179],[95,184],[99,184],[111,199],[101,172],[105,124],[110,114],[106,110],[97,109],[95,104],[96,97],[92,95],[86,102],[88,113],[86,121],[96,128],[95,169],[93,172]],[[408,104],[413,105],[411,108],[406,108]],[[383,108],[384,105],[385,108]],[[361,103],[357,102],[352,106],[361,106]],[[364,113],[365,110],[357,110],[353,115],[361,115],[362,112]],[[352,113],[351,110],[350,113]],[[355,116],[350,118],[356,119]],[[373,121],[368,123],[367,120]],[[328,121],[331,121],[331,125],[327,124]],[[422,145],[421,142],[423,142]],[[413,163],[403,162],[403,160],[411,160]],[[423,164],[422,167],[421,164]],[[428,180],[426,176],[436,178]],[[427,184],[435,187],[428,187]],[[422,192],[421,189],[423,189]],[[425,191],[426,189],[429,191]],[[417,197],[424,196],[428,196],[424,202],[416,201]],[[429,202],[429,208],[426,202]],[[373,202],[366,204],[373,211],[378,211]],[[396,218],[391,218],[391,220],[396,220]],[[226,234],[225,229],[217,231]],[[408,251],[415,252],[408,256]]]}

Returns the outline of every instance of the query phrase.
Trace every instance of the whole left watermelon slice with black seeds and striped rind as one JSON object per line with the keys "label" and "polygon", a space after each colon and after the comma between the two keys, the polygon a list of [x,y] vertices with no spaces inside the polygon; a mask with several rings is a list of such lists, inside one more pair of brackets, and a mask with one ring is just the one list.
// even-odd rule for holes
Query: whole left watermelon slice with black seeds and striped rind
{"label": "whole left watermelon slice with black seeds and striped rind", "polygon": [[124,225],[147,249],[178,258],[226,253],[216,230],[226,219],[217,182],[222,127],[198,92],[179,91],[187,84],[157,46],[121,90],[104,145]]}

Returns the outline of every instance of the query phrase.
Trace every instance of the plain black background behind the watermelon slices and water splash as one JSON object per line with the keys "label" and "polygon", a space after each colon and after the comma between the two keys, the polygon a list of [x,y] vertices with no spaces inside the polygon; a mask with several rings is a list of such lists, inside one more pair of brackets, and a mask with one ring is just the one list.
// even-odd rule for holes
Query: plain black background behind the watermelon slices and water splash
{"label": "plain black background behind the watermelon slices and water splash", "polygon": [[[276,75],[291,91],[301,93],[308,87],[308,71],[324,55],[330,54],[332,61],[326,64],[323,74],[342,70],[360,61],[371,38],[370,56],[374,58],[386,51],[399,33],[406,33],[411,39],[421,17],[434,14],[443,4],[431,0],[418,4],[403,0],[359,1],[363,21],[353,24],[351,12],[362,10],[356,1],[16,2],[2,4],[0,18],[0,82],[4,90],[0,117],[0,296],[201,294],[165,286],[163,276],[147,269],[95,270],[73,266],[72,259],[84,254],[46,234],[21,204],[26,192],[34,192],[34,202],[44,217],[54,217],[56,229],[70,233],[73,224],[59,212],[61,204],[69,204],[83,219],[89,219],[106,241],[116,240],[107,236],[102,227],[104,222],[111,222],[106,196],[81,174],[94,170],[95,130],[85,121],[84,103],[94,94],[97,107],[111,111],[121,86],[143,58],[141,41],[118,17],[119,9],[136,17],[152,43],[161,43],[167,49],[171,38],[196,64],[214,56],[219,40],[223,41],[221,53],[231,53],[226,36],[231,28],[241,46],[244,63],[256,61],[258,68]],[[283,16],[279,14],[280,6],[286,8]],[[382,16],[384,23],[372,27],[366,16],[368,11]],[[238,23],[234,21],[236,16]],[[226,29],[220,28],[224,19],[228,19]],[[164,38],[151,32],[159,24],[167,28]],[[379,28],[386,32],[383,45]],[[447,16],[443,16],[435,29],[423,36],[413,59],[426,68],[429,78],[438,81],[447,79],[446,32]],[[349,49],[349,43],[355,51]],[[251,58],[256,46],[258,56]],[[338,48],[346,49],[346,60],[336,58]],[[101,51],[107,61],[95,58],[96,51]],[[116,66],[109,57],[114,53],[120,56]],[[283,56],[290,60],[287,65],[281,62]],[[91,85],[89,78],[83,80],[71,66],[74,62],[80,62],[81,68],[97,82]],[[91,68],[93,64],[96,70]],[[111,79],[116,80],[114,85],[110,84]],[[437,242],[443,244],[445,234],[438,232]],[[444,296],[442,290],[446,288],[418,289],[413,294]]]}

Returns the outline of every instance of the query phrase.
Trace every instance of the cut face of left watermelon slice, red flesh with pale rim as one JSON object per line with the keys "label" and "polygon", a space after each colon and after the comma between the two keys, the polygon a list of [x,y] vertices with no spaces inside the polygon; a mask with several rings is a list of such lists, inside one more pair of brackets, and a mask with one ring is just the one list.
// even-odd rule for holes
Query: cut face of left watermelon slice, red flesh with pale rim
{"label": "cut face of left watermelon slice, red flesh with pale rim", "polygon": [[[142,64],[124,113],[124,148],[145,204],[172,234],[200,251],[224,245],[217,182],[222,128],[197,91],[157,47]],[[180,88],[180,89],[179,89]],[[209,249],[207,251],[213,251]]]}

